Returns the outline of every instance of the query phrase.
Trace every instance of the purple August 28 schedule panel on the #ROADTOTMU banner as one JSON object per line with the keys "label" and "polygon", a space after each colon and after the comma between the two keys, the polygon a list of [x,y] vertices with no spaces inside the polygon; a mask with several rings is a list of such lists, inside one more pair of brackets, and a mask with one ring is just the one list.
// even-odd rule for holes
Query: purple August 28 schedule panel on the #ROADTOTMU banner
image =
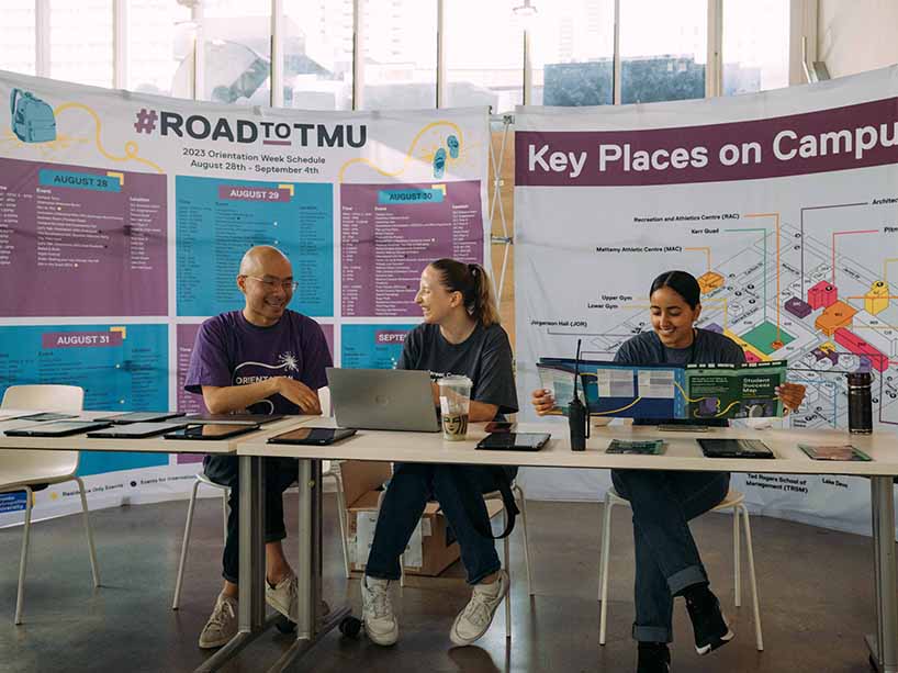
{"label": "purple August 28 schedule panel on the #ROADTOTMU banner", "polygon": [[[41,184],[41,170],[120,182]],[[166,177],[0,158],[2,317],[168,315]]]}

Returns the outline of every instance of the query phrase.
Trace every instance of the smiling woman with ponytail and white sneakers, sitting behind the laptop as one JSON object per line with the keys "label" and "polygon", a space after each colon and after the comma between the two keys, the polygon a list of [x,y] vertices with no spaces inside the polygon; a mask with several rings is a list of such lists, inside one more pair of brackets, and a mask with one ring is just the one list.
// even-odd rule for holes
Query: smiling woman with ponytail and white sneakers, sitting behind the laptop
{"label": "smiling woman with ponytail and white sneakers, sitting behind the laptop", "polygon": [[[467,375],[473,383],[472,423],[517,412],[512,346],[499,325],[483,267],[453,259],[433,262],[420,276],[415,303],[422,309],[424,323],[406,337],[399,368],[427,370],[436,377]],[[436,383],[433,394],[434,404],[439,406]],[[463,646],[486,632],[508,592],[508,575],[502,570],[493,539],[485,536],[490,517],[482,493],[497,486],[494,470],[486,467],[394,467],[361,583],[362,621],[373,642],[390,646],[399,638],[388,586],[391,580],[400,579],[400,557],[431,498],[439,501],[456,534],[468,583],[473,585],[471,601],[456,617],[449,637]]]}

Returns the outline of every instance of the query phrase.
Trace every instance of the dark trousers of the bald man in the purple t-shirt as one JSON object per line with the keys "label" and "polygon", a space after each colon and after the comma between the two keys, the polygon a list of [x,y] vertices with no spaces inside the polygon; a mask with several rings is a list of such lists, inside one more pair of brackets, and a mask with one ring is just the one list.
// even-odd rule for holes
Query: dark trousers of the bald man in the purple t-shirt
{"label": "dark trousers of the bald man in the purple t-shirt", "polygon": [[[209,455],[203,458],[203,472],[216,484],[228,486],[227,538],[222,553],[222,576],[238,583],[240,576],[240,480],[236,456]],[[287,537],[283,523],[283,492],[296,481],[299,461],[295,458],[265,459],[265,542],[277,542]]]}

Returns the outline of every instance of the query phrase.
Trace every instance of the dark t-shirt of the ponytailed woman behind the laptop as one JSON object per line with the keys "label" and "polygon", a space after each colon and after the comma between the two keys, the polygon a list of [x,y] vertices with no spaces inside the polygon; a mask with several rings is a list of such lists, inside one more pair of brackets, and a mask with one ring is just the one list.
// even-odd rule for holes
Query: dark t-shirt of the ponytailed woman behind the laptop
{"label": "dark t-shirt of the ponytailed woman behind the laptop", "polygon": [[478,325],[461,344],[450,344],[439,325],[423,323],[405,337],[396,369],[429,371],[439,379],[449,374],[471,379],[471,400],[495,404],[498,414],[518,411],[512,345],[502,325]]}

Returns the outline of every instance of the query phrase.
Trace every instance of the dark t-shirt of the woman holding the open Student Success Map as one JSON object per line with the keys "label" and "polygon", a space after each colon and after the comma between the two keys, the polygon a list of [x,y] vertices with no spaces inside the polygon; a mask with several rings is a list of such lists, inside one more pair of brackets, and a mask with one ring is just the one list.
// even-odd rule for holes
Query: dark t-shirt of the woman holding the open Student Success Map
{"label": "dark t-shirt of the woman holding the open Student Success Map", "polygon": [[[622,364],[742,364],[745,352],[739,345],[716,332],[696,329],[695,340],[687,348],[667,348],[654,332],[643,332],[627,339],[615,355],[615,362]],[[635,425],[712,425],[726,427],[726,418],[707,418],[700,422],[675,418],[637,418]]]}

